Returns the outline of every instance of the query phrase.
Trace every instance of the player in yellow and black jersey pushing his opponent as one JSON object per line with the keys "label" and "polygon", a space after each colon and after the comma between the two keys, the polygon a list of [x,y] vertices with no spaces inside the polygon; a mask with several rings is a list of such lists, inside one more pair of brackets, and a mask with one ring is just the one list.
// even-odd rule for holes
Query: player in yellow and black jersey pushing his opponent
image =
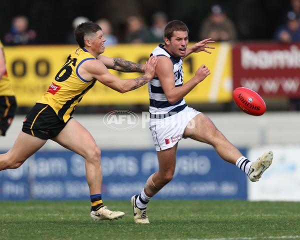
{"label": "player in yellow and black jersey pushing his opponent", "polygon": [[[79,24],[74,33],[79,48],[70,53],[47,92],[26,115],[22,131],[12,148],[0,154],[0,170],[19,167],[47,139],[56,141],[85,158],[86,180],[91,199],[90,217],[93,220],[118,219],[124,212],[111,211],[102,202],[100,149],[91,134],[71,114],[82,96],[97,80],[118,92],[130,91],[144,85],[154,76],[157,58],[150,57],[142,65],[122,58],[100,55],[104,52],[105,38],[100,26],[93,22]],[[120,79],[107,68],[144,74],[134,79]]]}

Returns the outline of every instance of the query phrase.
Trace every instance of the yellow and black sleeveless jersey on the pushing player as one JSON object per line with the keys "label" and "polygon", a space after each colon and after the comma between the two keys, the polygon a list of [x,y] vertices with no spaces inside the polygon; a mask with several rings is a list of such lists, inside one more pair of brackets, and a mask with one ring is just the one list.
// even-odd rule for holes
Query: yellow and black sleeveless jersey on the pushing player
{"label": "yellow and black sleeveless jersey on the pushing player", "polygon": [[87,81],[78,74],[80,64],[89,59],[95,59],[95,57],[84,48],[77,48],[72,51],[57,72],[48,90],[37,101],[51,106],[64,122],[70,118],[82,96],[96,82],[96,79]]}

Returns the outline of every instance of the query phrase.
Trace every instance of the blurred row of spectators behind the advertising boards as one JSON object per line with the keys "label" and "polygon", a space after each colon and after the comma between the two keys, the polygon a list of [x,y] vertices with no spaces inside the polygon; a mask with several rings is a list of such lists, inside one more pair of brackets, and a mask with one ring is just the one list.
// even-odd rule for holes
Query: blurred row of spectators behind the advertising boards
{"label": "blurred row of spectators behind the advertising boards", "polygon": [[[273,32],[272,40],[279,42],[292,42],[300,40],[300,0],[289,0],[289,9],[282,12],[280,24]],[[66,33],[63,42],[76,44],[73,30],[83,22],[91,20],[86,16],[77,16],[72,21],[72,29]],[[148,19],[149,20],[149,19]],[[111,21],[107,18],[94,20],[98,23],[106,38],[106,45],[116,43],[163,43],[163,29],[169,20],[169,16],[163,11],[154,12],[151,23],[147,24],[144,17],[131,14],[126,17],[122,38],[115,34]],[[9,32],[3,37],[4,45],[38,44],[38,31],[29,27],[29,21],[25,15],[17,15],[12,18]],[[198,40],[211,37],[215,41],[238,40],[238,31],[235,22],[230,19],[223,6],[213,4],[207,16],[199,23]]]}

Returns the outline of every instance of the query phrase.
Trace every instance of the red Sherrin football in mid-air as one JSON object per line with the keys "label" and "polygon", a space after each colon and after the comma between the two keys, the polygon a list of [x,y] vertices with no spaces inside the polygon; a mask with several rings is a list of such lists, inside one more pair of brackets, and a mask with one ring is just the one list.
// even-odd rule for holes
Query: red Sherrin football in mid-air
{"label": "red Sherrin football in mid-air", "polygon": [[245,113],[260,116],[265,112],[265,103],[261,96],[246,87],[237,87],[232,92],[235,104]]}

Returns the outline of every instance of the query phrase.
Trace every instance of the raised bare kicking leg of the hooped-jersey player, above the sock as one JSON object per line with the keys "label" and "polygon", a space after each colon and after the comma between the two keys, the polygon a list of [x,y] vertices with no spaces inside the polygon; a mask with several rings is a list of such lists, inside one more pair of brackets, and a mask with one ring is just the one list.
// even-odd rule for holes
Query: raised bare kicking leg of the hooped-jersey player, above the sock
{"label": "raised bare kicking leg of the hooped-jersey player, above the sock", "polygon": [[240,151],[230,143],[226,137],[215,127],[213,122],[203,113],[192,118],[194,127],[186,127],[183,137],[201,141],[213,146],[218,155],[227,162],[235,164],[236,160],[242,156]]}

